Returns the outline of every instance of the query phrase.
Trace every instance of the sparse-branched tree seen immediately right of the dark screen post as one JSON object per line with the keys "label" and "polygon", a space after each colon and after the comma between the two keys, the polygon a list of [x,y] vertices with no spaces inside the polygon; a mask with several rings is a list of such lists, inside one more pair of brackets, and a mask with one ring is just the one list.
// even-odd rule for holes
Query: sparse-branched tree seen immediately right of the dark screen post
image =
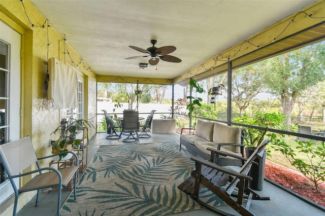
{"label": "sparse-branched tree seen immediately right of the dark screen post", "polygon": [[241,115],[256,100],[258,93],[267,91],[262,77],[265,70],[266,62],[260,61],[233,71],[232,101],[238,106]]}

